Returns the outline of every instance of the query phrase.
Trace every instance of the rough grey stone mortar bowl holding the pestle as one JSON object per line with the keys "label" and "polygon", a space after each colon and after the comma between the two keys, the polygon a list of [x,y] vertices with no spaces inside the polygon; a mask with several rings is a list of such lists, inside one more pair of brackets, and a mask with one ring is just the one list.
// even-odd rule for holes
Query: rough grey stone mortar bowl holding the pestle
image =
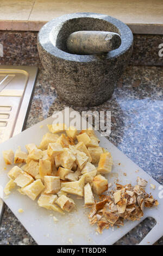
{"label": "rough grey stone mortar bowl holding the pestle", "polygon": [[[116,50],[92,55],[68,53],[66,41],[76,31],[120,34]],[[61,99],[69,105],[96,106],[108,100],[133,50],[133,34],[123,22],[107,15],[74,13],[46,23],[37,37],[43,67],[54,80]]]}

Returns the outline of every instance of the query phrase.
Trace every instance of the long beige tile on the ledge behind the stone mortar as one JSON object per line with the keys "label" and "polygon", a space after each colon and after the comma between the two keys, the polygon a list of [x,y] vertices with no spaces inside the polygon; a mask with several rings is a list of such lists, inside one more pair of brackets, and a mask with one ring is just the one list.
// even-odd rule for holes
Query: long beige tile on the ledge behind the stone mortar
{"label": "long beige tile on the ledge behind the stone mortar", "polygon": [[162,24],[162,0],[35,0],[30,21],[49,21],[78,12],[107,14],[124,23]]}

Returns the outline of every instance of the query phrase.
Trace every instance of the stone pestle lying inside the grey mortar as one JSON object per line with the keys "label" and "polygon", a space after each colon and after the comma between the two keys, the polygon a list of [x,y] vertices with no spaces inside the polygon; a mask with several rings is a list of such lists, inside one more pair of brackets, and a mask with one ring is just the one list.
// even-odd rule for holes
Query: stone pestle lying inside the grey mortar
{"label": "stone pestle lying inside the grey mortar", "polygon": [[72,54],[109,52],[120,45],[120,35],[105,31],[78,31],[70,34],[67,39],[67,49]]}

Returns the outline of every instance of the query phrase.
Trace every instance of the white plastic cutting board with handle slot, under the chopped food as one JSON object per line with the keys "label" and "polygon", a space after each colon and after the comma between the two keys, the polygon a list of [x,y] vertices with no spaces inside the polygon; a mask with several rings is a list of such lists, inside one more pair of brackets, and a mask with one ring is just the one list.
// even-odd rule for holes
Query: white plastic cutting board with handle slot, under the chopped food
{"label": "white plastic cutting board with handle slot, under the chopped food", "polygon": [[[84,209],[83,200],[77,200],[75,196],[72,198],[77,204],[78,211],[62,216],[57,212],[39,208],[36,201],[23,196],[16,189],[8,198],[3,193],[5,184],[9,180],[7,173],[12,166],[4,169],[5,164],[2,151],[7,149],[15,151],[18,145],[21,146],[22,150],[26,150],[25,145],[28,143],[38,145],[42,136],[48,132],[47,124],[52,124],[52,122],[53,118],[49,117],[0,144],[0,197],[39,245],[112,245],[139,222],[128,221],[124,224],[124,227],[115,227],[114,230],[110,228],[104,230],[102,235],[97,235],[95,232],[96,226],[90,226],[87,218],[89,210]],[[40,128],[41,125],[43,125],[42,128]],[[109,182],[114,182],[118,178],[118,183],[120,184],[131,183],[134,185],[136,184],[137,176],[140,176],[148,181],[146,191],[148,193],[152,192],[154,198],[158,199],[159,206],[157,208],[145,209],[144,217],[141,219],[142,221],[146,217],[153,217],[156,220],[155,227],[140,243],[141,245],[152,245],[163,235],[163,204],[162,199],[158,196],[160,184],[118,150],[108,139],[102,137],[99,132],[96,132],[96,134],[101,141],[101,147],[108,149],[114,160],[114,167],[108,175]],[[118,163],[121,164],[119,165]],[[135,172],[136,170],[139,170],[139,172]],[[123,173],[127,173],[127,176],[124,176]],[[156,186],[155,190],[150,188],[151,183]],[[18,212],[20,208],[24,210],[22,214]],[[53,215],[58,218],[58,222],[53,221]]]}

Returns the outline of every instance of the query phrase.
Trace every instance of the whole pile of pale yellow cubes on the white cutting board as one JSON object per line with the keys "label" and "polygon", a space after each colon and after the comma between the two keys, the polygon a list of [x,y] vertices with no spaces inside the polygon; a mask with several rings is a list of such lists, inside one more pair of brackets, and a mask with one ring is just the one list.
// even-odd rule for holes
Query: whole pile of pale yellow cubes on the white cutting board
{"label": "whole pile of pale yellow cubes on the white cutting board", "polygon": [[16,185],[18,191],[35,200],[39,206],[70,212],[75,203],[68,195],[84,197],[85,205],[95,203],[93,193],[108,190],[108,180],[102,175],[111,172],[112,156],[99,147],[99,139],[91,129],[78,132],[65,124],[48,125],[37,147],[27,144],[28,153],[20,147],[15,152],[3,151],[5,163],[14,166],[4,188],[5,194]]}

